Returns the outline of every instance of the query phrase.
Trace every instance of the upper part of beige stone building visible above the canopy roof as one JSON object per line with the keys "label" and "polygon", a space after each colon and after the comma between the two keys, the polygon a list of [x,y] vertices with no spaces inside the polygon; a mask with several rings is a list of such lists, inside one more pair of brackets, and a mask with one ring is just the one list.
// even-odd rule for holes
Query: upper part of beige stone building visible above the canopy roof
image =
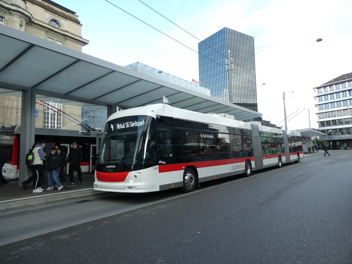
{"label": "upper part of beige stone building visible above the canopy roof", "polygon": [[82,51],[89,42],[75,14],[50,0],[0,0],[1,24]]}

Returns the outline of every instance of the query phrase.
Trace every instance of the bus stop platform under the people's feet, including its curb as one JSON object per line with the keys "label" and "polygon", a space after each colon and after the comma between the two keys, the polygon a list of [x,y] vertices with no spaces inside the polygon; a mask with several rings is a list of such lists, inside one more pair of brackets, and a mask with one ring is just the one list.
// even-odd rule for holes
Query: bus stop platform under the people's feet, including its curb
{"label": "bus stop platform under the people's feet, including its curb", "polygon": [[32,193],[32,186],[28,186],[27,190],[25,190],[22,186],[18,186],[18,180],[2,184],[0,188],[0,216],[112,194],[111,192],[93,190],[93,174],[82,175],[82,182],[84,186],[80,186],[78,178],[75,177],[75,185],[67,187],[69,180],[66,177],[66,183],[62,183],[64,186],[62,190],[47,191],[45,190],[48,187],[47,184],[43,184],[42,188],[44,191],[42,193]]}

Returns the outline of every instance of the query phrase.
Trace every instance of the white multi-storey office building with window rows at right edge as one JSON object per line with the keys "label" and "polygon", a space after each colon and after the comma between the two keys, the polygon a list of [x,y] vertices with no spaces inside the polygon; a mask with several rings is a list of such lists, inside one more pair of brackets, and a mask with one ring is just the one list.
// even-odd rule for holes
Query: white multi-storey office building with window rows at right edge
{"label": "white multi-storey office building with window rows at right edge", "polygon": [[316,93],[320,140],[328,141],[332,149],[352,147],[352,73],[343,74],[318,87]]}

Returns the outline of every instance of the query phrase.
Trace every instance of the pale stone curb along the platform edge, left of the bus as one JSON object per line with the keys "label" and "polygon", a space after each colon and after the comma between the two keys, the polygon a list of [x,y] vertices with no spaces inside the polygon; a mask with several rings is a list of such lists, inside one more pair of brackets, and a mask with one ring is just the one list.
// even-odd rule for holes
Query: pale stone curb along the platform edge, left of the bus
{"label": "pale stone curb along the platform edge, left of the bus", "polygon": [[111,195],[106,191],[95,191],[92,189],[67,191],[66,193],[44,194],[42,196],[25,197],[0,202],[0,216],[23,212],[27,210],[39,209],[65,203],[94,199]]}

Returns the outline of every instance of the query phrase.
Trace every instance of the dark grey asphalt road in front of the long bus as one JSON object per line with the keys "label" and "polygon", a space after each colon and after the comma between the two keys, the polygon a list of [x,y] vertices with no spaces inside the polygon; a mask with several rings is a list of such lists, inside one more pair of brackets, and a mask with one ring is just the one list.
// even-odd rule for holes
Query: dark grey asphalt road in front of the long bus
{"label": "dark grey asphalt road in front of the long bus", "polygon": [[351,264],[352,151],[329,153],[187,195],[118,194],[1,216],[0,240],[11,236],[4,220],[21,221],[1,263]]}

